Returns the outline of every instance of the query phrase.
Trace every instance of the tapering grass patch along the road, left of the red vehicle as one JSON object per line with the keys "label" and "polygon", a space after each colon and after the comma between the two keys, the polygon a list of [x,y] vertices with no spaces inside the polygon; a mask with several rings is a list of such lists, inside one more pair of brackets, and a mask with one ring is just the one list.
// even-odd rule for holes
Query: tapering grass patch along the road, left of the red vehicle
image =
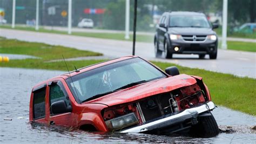
{"label": "tapering grass patch along the road, left of the red vehicle", "polygon": [[101,53],[82,51],[64,46],[53,46],[42,43],[28,43],[16,39],[0,37],[0,53],[27,54],[42,58],[42,60],[65,58],[102,56]]}

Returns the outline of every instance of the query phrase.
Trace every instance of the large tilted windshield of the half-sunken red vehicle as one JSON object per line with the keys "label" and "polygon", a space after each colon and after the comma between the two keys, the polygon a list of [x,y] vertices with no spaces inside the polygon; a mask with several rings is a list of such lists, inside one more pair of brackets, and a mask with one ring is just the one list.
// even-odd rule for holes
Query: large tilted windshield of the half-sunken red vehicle
{"label": "large tilted windshield of the half-sunken red vehicle", "polygon": [[102,97],[123,88],[166,77],[164,73],[140,58],[105,65],[66,79],[80,102]]}

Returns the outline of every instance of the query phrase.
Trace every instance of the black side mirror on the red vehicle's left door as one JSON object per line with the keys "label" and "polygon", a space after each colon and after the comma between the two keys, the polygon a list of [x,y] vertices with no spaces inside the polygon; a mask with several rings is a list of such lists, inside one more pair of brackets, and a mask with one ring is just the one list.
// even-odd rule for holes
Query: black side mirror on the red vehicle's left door
{"label": "black side mirror on the red vehicle's left door", "polygon": [[59,100],[51,104],[51,112],[53,114],[72,112],[72,107],[66,105],[66,101]]}

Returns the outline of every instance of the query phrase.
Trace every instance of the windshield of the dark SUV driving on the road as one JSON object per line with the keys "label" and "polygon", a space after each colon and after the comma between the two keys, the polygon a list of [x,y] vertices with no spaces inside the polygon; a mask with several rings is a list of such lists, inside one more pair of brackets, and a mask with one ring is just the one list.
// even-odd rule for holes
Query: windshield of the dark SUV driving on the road
{"label": "windshield of the dark SUV driving on the road", "polygon": [[170,27],[210,28],[205,16],[170,16]]}

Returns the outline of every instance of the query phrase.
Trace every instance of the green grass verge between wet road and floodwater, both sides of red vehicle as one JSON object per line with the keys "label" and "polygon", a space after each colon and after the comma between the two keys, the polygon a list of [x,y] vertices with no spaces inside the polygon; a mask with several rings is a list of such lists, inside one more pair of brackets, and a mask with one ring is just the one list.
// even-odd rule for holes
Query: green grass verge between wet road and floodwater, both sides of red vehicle
{"label": "green grass verge between wet road and floodwater, both sides of red vehicle", "polygon": [[[66,66],[63,61],[45,62],[52,59],[61,59],[58,53],[64,54],[65,57],[77,56],[78,50],[63,47],[61,52],[51,52],[57,49],[58,46],[45,45],[41,43],[28,43],[12,39],[0,39],[0,53],[16,53],[16,54],[31,54],[32,56],[42,57],[42,59],[23,59],[23,60],[10,60],[9,63],[0,63],[0,67],[22,67],[22,68],[38,68],[47,70],[63,70],[66,71]],[[51,48],[48,48],[51,47]],[[55,48],[56,47],[56,48]],[[19,50],[22,49],[22,50]],[[30,50],[32,49],[32,50]],[[43,49],[43,50],[42,50]],[[66,49],[67,51],[63,50]],[[71,49],[71,50],[70,50]],[[54,53],[54,54],[53,54]],[[79,53],[93,53],[83,52]],[[55,55],[56,54],[56,55]],[[99,53],[94,53],[99,55]],[[46,55],[46,56],[44,56]],[[83,55],[83,54],[82,54]],[[89,54],[90,55],[90,54]],[[83,55],[85,56],[85,55]],[[99,63],[104,60],[77,60],[68,61],[69,70],[74,70],[76,67],[84,67],[87,65]],[[161,69],[169,66],[177,66],[180,73],[203,77],[204,82],[208,86],[212,100],[217,105],[226,106],[241,112],[255,115],[256,114],[256,80],[252,78],[239,78],[232,74],[223,74],[217,72],[210,72],[200,70],[198,68],[188,68],[171,63],[160,63],[152,61]]]}

